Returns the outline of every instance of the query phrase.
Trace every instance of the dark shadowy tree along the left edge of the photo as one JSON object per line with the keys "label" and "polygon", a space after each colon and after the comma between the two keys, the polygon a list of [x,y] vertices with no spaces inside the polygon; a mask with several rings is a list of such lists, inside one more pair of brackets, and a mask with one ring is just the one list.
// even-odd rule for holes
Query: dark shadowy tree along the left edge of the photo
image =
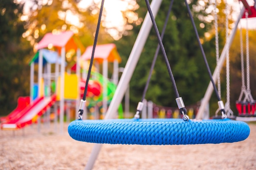
{"label": "dark shadowy tree along the left edge of the photo", "polygon": [[25,22],[20,20],[23,4],[13,0],[0,3],[0,115],[16,106],[19,96],[29,94],[29,68],[26,67],[31,46],[22,38]]}

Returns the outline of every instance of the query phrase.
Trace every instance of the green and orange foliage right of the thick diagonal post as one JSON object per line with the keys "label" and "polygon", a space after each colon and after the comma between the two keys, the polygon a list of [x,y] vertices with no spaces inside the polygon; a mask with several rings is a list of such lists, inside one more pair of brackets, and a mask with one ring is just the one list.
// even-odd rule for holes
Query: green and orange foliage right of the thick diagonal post
{"label": "green and orange foliage right of the thick diagonal post", "polygon": [[[144,1],[137,1],[140,5],[137,11],[140,18],[144,18],[146,15],[146,7]],[[161,33],[163,22],[168,11],[169,1],[164,0],[160,7],[157,16],[155,17],[157,26]],[[218,33],[219,33],[219,45],[220,53],[225,45],[225,2],[221,1],[217,4],[218,12]],[[202,42],[204,52],[206,54],[211,73],[213,73],[216,67],[216,44],[215,44],[215,29],[214,29],[214,8],[210,1],[197,1],[193,0],[190,3],[190,9],[193,13],[195,25],[198,29],[200,40]],[[232,20],[231,13],[234,10],[229,5],[228,26],[231,31]],[[127,36],[117,42],[118,49],[121,50],[122,57],[128,57],[132,45],[130,42],[134,42],[139,31],[140,26],[134,26],[134,29],[129,32]],[[253,44],[255,40],[252,37],[254,31],[249,31],[250,35],[250,56],[254,56]],[[243,33],[245,34],[245,33]],[[240,52],[238,48],[238,39],[234,39],[232,46],[230,47],[230,76],[231,76],[231,109],[236,114],[235,102],[238,99],[240,91]],[[245,40],[244,40],[245,41]],[[202,53],[199,49],[198,42],[195,38],[195,33],[189,20],[186,7],[183,2],[174,2],[171,17],[168,21],[166,33],[164,35],[163,44],[166,49],[166,53],[171,64],[173,75],[177,84],[180,96],[183,98],[185,105],[196,104],[203,97],[210,82],[209,75],[207,73],[204,61],[202,59]],[[153,60],[153,55],[157,47],[157,38],[155,32],[151,30],[144,50],[141,54],[135,73],[130,82],[130,98],[131,98],[131,110],[135,110],[137,102],[141,99],[146,79],[149,73],[149,68]],[[245,45],[244,45],[245,48]],[[123,50],[124,49],[124,50]],[[245,53],[245,50],[244,50]],[[236,56],[236,57],[233,57]],[[146,99],[152,100],[156,104],[162,106],[176,106],[175,96],[173,94],[172,84],[167,73],[166,66],[162,59],[162,54],[159,54],[157,63],[155,65]],[[250,58],[251,69],[251,89],[252,95],[255,96],[255,90],[253,86],[255,84],[252,79],[254,72],[253,66],[255,61],[253,57]],[[221,71],[221,90],[222,100],[226,102],[226,71],[225,66]],[[238,94],[239,93],[239,94]],[[217,97],[212,95],[210,101],[210,113],[213,115],[217,110]]]}

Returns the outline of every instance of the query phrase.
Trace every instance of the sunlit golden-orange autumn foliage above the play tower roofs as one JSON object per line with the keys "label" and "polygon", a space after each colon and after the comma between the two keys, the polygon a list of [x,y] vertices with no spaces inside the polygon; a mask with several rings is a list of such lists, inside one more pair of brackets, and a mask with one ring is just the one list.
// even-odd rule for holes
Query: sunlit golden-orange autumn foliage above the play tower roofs
{"label": "sunlit golden-orange autumn foliage above the play tower roofs", "polygon": [[[93,44],[98,13],[92,15],[90,8],[79,9],[75,0],[54,0],[45,4],[34,0],[27,15],[27,31],[24,36],[32,45],[39,42],[45,33],[66,30],[78,35],[83,45]],[[99,42],[106,43],[111,40],[110,35],[101,26]]]}

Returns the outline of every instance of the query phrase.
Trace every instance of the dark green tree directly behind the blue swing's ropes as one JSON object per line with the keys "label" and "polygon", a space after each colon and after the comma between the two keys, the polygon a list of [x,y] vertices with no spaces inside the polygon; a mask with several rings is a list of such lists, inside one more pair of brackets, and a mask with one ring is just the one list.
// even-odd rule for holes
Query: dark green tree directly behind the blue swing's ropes
{"label": "dark green tree directly behind the blue swing's ropes", "polygon": [[[140,8],[136,12],[140,18],[144,18],[147,12],[145,2],[141,0],[137,1],[137,3]],[[161,10],[159,10],[155,17],[159,31],[161,31],[164,24],[169,3],[170,1],[164,0],[160,7]],[[213,70],[216,61],[215,58],[212,57],[213,55],[208,55],[212,53],[215,47],[212,42],[204,38],[204,33],[211,28],[211,22],[204,20],[204,17],[209,15],[209,13],[204,11],[204,7],[196,11],[194,9],[196,6],[200,6],[196,0],[190,3],[198,33],[201,41],[204,41],[204,51],[206,52],[211,69]],[[198,17],[198,15],[203,18],[201,17],[201,19],[199,19],[200,17]],[[134,42],[139,28],[140,26],[134,26],[134,29],[130,31],[127,36],[124,36],[117,42],[117,47],[123,57],[129,56],[132,46],[128,46],[127,42]],[[163,44],[180,96],[183,98],[186,105],[195,104],[203,97],[207,85],[209,84],[209,76],[188,16],[188,11],[183,2],[173,3],[173,9],[168,21]],[[139,102],[141,98],[156,48],[157,38],[155,31],[151,30],[130,82],[130,100],[133,109],[136,108],[137,102]],[[153,100],[153,102],[162,106],[177,106],[171,80],[161,53],[159,53],[153,71],[146,99]]]}

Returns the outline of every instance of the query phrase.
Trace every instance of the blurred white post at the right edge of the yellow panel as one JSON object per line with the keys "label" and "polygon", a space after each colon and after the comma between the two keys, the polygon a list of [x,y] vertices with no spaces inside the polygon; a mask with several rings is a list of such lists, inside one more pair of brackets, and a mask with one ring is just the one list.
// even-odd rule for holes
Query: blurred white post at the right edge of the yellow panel
{"label": "blurred white post at the right edge of the yellow panel", "polygon": [[80,78],[81,78],[81,70],[80,70],[80,65],[79,65],[79,61],[80,61],[80,57],[81,57],[81,50],[77,49],[76,50],[76,76],[77,76],[77,99],[76,99],[76,113],[78,113],[79,111],[79,103],[80,103]]}

